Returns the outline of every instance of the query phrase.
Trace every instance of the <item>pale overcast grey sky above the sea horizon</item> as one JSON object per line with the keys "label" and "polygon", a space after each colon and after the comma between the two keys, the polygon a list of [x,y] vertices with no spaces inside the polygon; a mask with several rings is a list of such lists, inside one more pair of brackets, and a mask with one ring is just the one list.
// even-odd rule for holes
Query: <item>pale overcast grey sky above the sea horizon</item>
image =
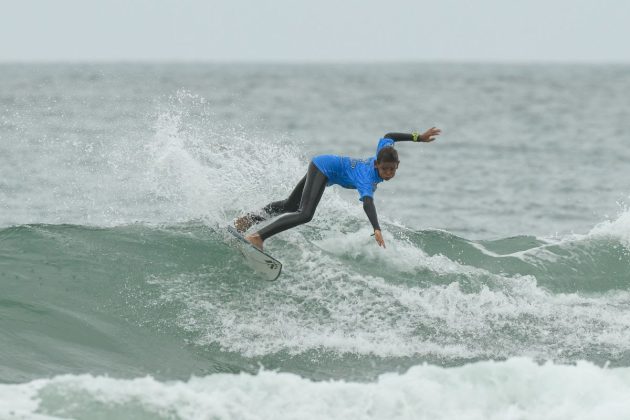
{"label": "pale overcast grey sky above the sea horizon", "polygon": [[0,61],[630,62],[630,0],[0,0]]}

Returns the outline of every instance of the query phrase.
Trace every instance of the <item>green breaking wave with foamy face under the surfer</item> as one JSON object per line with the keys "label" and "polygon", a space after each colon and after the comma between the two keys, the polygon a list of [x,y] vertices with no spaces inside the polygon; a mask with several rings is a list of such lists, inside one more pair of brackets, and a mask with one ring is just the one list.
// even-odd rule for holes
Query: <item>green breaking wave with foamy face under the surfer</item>
{"label": "green breaking wave with foamy face under the surfer", "polygon": [[614,235],[552,244],[389,231],[401,262],[331,249],[316,229],[274,244],[286,268],[269,283],[203,224],[5,228],[3,378],[186,378],[262,363],[366,380],[521,352],[628,363],[630,253]]}

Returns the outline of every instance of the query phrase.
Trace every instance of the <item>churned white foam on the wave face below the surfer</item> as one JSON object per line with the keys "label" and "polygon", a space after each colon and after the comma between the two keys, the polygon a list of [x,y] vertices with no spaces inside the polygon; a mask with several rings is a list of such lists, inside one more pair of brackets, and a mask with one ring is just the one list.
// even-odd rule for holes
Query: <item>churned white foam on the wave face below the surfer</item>
{"label": "churned white foam on the wave face below the surfer", "polygon": [[[282,241],[291,244],[282,246],[291,264],[281,279],[242,287],[238,299],[196,274],[152,282],[165,301],[182,308],[174,322],[193,333],[197,345],[218,344],[248,357],[325,350],[379,357],[571,360],[593,348],[611,354],[630,346],[630,314],[624,310],[630,293],[550,293],[531,276],[504,277],[445,257],[429,258],[395,238],[388,238],[390,249],[401,254],[369,243],[369,236],[365,244],[354,239],[359,245],[345,244],[341,236],[324,239],[319,243],[329,249],[323,251],[301,231],[283,233]],[[338,258],[346,245],[351,253],[359,252],[353,246],[373,248],[363,251],[374,252],[368,258],[382,254],[387,279],[358,272],[353,264],[361,261]],[[414,258],[407,268],[420,275],[395,269],[411,260],[407,253]],[[421,281],[422,270],[430,282]],[[441,277],[445,284],[432,284]]]}

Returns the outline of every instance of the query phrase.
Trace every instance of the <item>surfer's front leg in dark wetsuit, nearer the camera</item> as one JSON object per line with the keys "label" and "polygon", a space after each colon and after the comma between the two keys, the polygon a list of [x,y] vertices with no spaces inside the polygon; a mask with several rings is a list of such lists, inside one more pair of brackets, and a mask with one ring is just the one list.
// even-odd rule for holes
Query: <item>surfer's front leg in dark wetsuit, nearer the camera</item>
{"label": "surfer's front leg in dark wetsuit, nearer the camera", "polygon": [[286,213],[258,231],[263,241],[270,236],[294,226],[310,222],[315,209],[322,198],[328,178],[311,162],[306,173],[306,182],[302,191],[300,206],[296,211]]}

